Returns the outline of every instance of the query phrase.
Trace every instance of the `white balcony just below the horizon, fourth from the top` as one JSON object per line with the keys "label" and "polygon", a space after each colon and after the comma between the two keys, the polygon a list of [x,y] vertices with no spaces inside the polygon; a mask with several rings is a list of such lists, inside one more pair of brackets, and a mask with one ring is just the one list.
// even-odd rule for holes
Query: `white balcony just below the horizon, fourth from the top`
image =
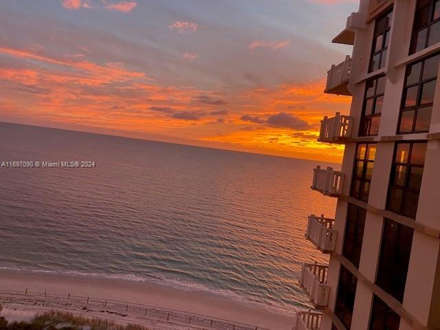
{"label": "white balcony just below the horizon, fourth from the top", "polygon": [[314,168],[314,179],[311,183],[311,189],[321,192],[330,197],[340,197],[344,187],[344,174],[333,170],[333,167],[327,167],[326,170],[321,166]]}

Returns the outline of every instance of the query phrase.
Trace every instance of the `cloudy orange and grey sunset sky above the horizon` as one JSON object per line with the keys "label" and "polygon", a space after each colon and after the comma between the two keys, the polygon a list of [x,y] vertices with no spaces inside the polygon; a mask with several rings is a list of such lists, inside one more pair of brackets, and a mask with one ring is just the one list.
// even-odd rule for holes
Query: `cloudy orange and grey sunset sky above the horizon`
{"label": "cloudy orange and grey sunset sky above the horizon", "polygon": [[340,161],[350,0],[0,0],[0,121]]}

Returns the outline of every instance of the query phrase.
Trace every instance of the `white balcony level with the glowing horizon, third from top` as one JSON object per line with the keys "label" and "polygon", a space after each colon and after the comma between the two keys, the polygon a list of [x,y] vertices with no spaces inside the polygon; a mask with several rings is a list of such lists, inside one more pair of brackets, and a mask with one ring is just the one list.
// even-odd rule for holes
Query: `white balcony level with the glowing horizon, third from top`
{"label": "white balcony level with the glowing horizon, third from top", "polygon": [[351,115],[341,115],[337,112],[334,117],[327,115],[321,120],[319,142],[344,144],[351,137],[354,118]]}

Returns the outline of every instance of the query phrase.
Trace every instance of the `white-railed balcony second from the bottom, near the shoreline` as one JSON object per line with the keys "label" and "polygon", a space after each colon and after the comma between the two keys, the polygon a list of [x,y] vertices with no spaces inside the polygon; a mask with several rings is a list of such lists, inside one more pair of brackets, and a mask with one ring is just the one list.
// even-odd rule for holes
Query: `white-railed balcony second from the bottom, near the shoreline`
{"label": "white-railed balcony second from the bottom, near the shoreline", "polygon": [[[318,263],[305,263],[301,270],[300,287],[309,295],[310,302],[316,308],[329,305],[330,285],[327,285],[327,272],[329,266]],[[307,328],[306,328],[307,329]]]}

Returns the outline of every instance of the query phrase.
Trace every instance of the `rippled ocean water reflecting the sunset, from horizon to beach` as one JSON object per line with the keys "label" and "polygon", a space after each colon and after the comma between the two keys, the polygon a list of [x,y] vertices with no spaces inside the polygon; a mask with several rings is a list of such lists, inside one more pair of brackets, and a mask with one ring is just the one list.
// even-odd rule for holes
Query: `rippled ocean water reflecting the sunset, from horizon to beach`
{"label": "rippled ocean water reflecting the sunset, from horizon to beach", "polygon": [[[151,281],[292,311],[316,162],[0,123],[0,267]],[[324,163],[321,163],[325,165]],[[1,285],[0,285],[1,286]]]}

